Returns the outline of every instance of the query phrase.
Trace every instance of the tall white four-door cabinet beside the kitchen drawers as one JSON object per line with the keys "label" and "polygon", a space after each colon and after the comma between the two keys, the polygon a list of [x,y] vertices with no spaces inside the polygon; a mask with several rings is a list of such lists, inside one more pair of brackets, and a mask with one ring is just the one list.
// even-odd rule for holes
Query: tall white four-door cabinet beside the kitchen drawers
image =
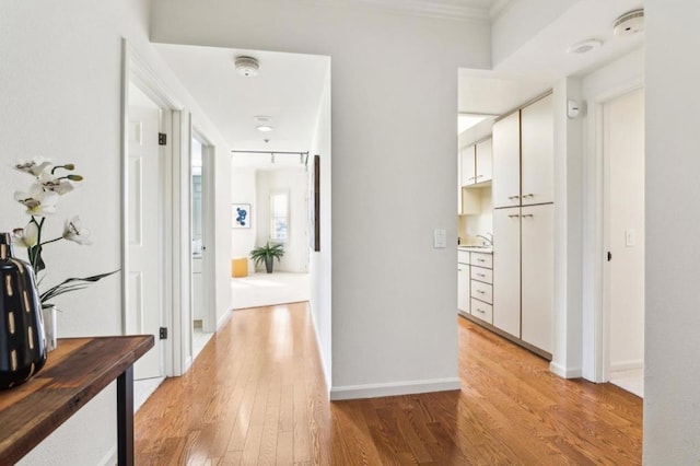
{"label": "tall white four-door cabinet beside the kitchen drawers", "polygon": [[553,106],[547,95],[493,125],[493,325],[551,354]]}

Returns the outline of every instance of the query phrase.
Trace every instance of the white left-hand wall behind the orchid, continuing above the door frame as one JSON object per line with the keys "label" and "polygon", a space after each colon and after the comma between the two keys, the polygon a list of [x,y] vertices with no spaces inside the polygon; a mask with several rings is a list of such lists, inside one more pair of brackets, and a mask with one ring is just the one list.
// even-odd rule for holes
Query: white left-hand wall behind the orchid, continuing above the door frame
{"label": "white left-hand wall behind the orchid, continuing above the door frame", "polygon": [[[118,268],[122,37],[152,67],[163,89],[195,114],[207,137],[223,145],[221,138],[149,44],[147,1],[69,0],[58,4],[49,0],[2,0],[0,10],[0,139],[5,165],[0,171],[0,198],[5,202],[0,231],[26,222],[23,210],[11,199],[14,190],[26,187],[28,178],[7,168],[9,164],[37,155],[73,162],[85,180],[78,191],[61,198],[59,213],[49,219],[50,230],[57,233],[66,218],[80,214],[84,226],[92,231],[93,244],[56,244],[50,251],[47,247],[51,272],[47,280]],[[217,179],[218,186],[225,189],[226,203],[229,177],[226,168]],[[228,232],[229,229],[221,233],[226,251]],[[229,264],[224,260],[225,279]],[[230,293],[228,280],[221,290]],[[57,300],[63,311],[59,315],[60,337],[121,331],[118,278],[105,279],[79,293]],[[231,303],[230,298],[221,298],[218,294],[219,315]],[[116,447],[114,391],[109,388],[105,396],[90,403],[84,412],[80,422],[59,428],[50,442],[26,456],[26,462],[95,465],[108,461]],[[75,447],[84,444],[86,436],[90,445]]]}

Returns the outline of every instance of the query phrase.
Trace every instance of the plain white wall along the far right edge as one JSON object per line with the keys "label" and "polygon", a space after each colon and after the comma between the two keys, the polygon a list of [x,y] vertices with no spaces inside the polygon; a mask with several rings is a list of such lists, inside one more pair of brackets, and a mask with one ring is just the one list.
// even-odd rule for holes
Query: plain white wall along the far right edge
{"label": "plain white wall along the far right edge", "polygon": [[[700,463],[700,3],[645,0],[644,464]],[[669,53],[673,51],[673,53]],[[679,58],[680,57],[680,58]]]}

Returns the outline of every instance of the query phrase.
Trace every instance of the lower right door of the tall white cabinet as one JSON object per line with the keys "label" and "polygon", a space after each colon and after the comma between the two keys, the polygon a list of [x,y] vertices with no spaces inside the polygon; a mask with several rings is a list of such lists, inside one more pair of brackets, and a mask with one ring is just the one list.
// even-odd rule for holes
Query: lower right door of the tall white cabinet
{"label": "lower right door of the tall white cabinet", "polygon": [[549,353],[553,350],[555,207],[522,209],[522,339]]}

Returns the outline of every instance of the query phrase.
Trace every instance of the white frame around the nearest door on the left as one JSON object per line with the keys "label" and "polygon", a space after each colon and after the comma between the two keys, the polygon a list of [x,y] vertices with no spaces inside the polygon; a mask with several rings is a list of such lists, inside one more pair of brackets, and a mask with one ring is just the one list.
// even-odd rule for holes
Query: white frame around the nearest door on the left
{"label": "white frame around the nearest door on the left", "polygon": [[[165,376],[182,375],[186,370],[186,358],[183,354],[184,345],[182,338],[183,308],[182,303],[189,302],[189,290],[183,287],[184,273],[189,273],[189,265],[182,260],[182,230],[189,228],[180,223],[183,202],[182,199],[182,162],[189,161],[183,148],[183,106],[165,91],[158,75],[147,62],[133,50],[126,38],[121,39],[121,270],[128,270],[128,105],[129,83],[133,83],[143,91],[162,109],[162,121],[168,138],[164,147],[166,151],[163,166],[163,257],[161,264],[163,283],[163,315],[162,322],[168,331],[170,338],[163,345]],[[179,163],[178,163],[179,161]],[[187,174],[188,172],[186,172]],[[185,185],[187,186],[187,185]],[[189,196],[189,189],[186,189]],[[188,212],[186,212],[188,213]],[[185,236],[187,237],[187,236]],[[189,248],[188,248],[189,249]],[[185,275],[187,277],[187,275]],[[179,293],[175,293],[179,290]],[[127,303],[128,303],[128,277],[121,273],[121,333],[127,331]],[[185,298],[185,299],[183,299]]]}

